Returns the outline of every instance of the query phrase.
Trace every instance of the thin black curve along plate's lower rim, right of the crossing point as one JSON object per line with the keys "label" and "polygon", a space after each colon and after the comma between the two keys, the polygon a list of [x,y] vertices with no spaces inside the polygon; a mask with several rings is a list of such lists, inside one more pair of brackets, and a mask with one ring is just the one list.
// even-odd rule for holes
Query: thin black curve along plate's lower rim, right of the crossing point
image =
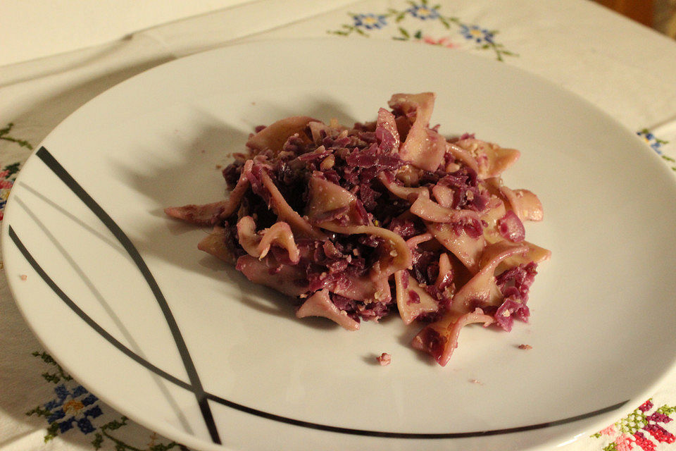
{"label": "thin black curve along plate's lower rim, right of the crossing point", "polygon": [[353,429],[353,428],[341,428],[338,426],[328,426],[325,424],[311,423],[309,421],[296,420],[292,418],[287,418],[286,416],[280,416],[275,414],[270,414],[268,412],[263,412],[258,409],[252,409],[251,407],[243,406],[242,404],[237,404],[236,402],[228,401],[222,397],[207,395],[209,399],[218,402],[219,404],[226,405],[227,407],[232,407],[232,409],[237,409],[241,412],[246,412],[247,414],[252,414],[256,416],[261,416],[266,419],[273,421],[280,421],[281,423],[292,424],[294,426],[301,426],[303,428],[318,429],[320,431],[344,433],[350,435],[367,435],[369,437],[383,437],[383,438],[470,438],[470,437],[485,437],[488,435],[501,435],[509,434],[516,432],[525,432],[525,431],[535,431],[536,429],[549,428],[552,426],[561,426],[562,424],[572,423],[573,421],[579,421],[592,416],[605,414],[606,412],[612,412],[615,409],[619,409],[623,405],[627,404],[629,400],[618,402],[618,404],[613,404],[609,407],[604,407],[603,409],[594,410],[594,412],[588,412],[582,415],[570,416],[568,418],[556,420],[556,421],[547,421],[545,423],[530,424],[528,426],[518,426],[515,428],[503,428],[503,429],[492,429],[489,431],[474,431],[474,432],[449,432],[449,433],[415,433],[415,432],[386,432],[386,431],[369,431],[366,429]]}

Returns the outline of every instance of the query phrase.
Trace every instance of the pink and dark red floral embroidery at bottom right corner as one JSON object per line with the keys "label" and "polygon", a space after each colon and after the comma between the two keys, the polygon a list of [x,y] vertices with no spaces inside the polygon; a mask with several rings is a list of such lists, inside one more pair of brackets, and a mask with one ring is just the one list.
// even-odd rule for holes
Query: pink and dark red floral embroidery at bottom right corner
{"label": "pink and dark red floral embroidery at bottom right corner", "polygon": [[676,406],[663,405],[649,413],[654,407],[652,400],[647,400],[634,412],[592,437],[612,440],[603,451],[654,451],[661,443],[675,443],[676,435],[662,425],[672,421]]}

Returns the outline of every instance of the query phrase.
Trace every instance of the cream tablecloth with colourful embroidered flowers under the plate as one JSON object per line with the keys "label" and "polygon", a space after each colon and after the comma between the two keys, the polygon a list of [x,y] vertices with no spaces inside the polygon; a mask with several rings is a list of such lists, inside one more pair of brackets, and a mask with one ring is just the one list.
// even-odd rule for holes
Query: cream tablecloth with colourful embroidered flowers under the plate
{"label": "cream tablecloth with colourful embroidered flowers under the plate", "polygon": [[[676,174],[676,42],[590,1],[249,1],[119,42],[1,67],[0,220],[27,156],[109,87],[204,49],[327,36],[459,49],[542,75],[635,130]],[[673,338],[656,337],[646,352],[660,340]],[[73,346],[86,358],[86,343]],[[632,414],[565,449],[676,451],[675,418],[676,375]],[[0,451],[43,449],[186,448],[134,424],[65,373],[28,330],[3,274]]]}

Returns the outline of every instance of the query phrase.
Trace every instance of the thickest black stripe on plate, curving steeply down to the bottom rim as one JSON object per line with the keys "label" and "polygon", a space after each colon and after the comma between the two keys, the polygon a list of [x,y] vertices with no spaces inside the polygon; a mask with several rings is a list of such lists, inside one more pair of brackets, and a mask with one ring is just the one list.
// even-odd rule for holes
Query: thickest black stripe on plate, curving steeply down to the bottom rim
{"label": "thickest black stripe on plate, curving steeply down to the bottom rim", "polygon": [[56,176],[60,178],[61,181],[65,183],[65,185],[70,188],[70,190],[73,191],[73,193],[75,193],[75,195],[79,197],[80,200],[90,210],[92,210],[96,217],[99,218],[99,221],[104,223],[108,230],[113,233],[115,238],[117,238],[120,244],[123,245],[130,257],[132,257],[132,260],[134,261],[134,264],[136,264],[137,268],[139,268],[139,271],[141,271],[146,283],[153,292],[155,299],[157,299],[160,309],[164,314],[165,321],[167,321],[169,329],[171,330],[171,334],[173,335],[174,341],[176,342],[178,352],[181,356],[183,365],[190,380],[190,385],[192,385],[192,392],[195,394],[197,403],[199,404],[199,409],[202,412],[202,416],[204,416],[204,421],[208,428],[209,434],[211,435],[211,440],[213,443],[220,444],[221,442],[220,437],[218,436],[218,429],[216,428],[216,424],[213,421],[213,415],[211,414],[211,409],[208,404],[206,393],[202,387],[202,383],[199,379],[199,374],[197,373],[194,362],[192,362],[192,357],[190,357],[188,347],[185,344],[183,335],[181,335],[178,324],[171,313],[169,304],[162,294],[162,291],[160,290],[148,266],[146,266],[146,262],[141,257],[141,254],[139,254],[139,251],[136,249],[132,241],[129,239],[129,237],[127,237],[127,234],[125,234],[120,226],[118,226],[118,224],[113,221],[113,218],[111,218],[111,216],[109,216],[106,211],[104,211],[104,209],[102,209],[101,206],[97,204],[91,196],[89,196],[89,194],[87,194],[84,188],[82,188],[82,186],[80,186],[80,184],[75,181],[73,176],[71,176],[68,171],[66,171],[65,168],[61,166],[61,163],[56,161],[54,156],[50,154],[45,147],[40,147],[36,154],[39,159],[41,159],[46,164],[46,166],[50,168],[51,171],[54,172],[54,174],[56,174]]}

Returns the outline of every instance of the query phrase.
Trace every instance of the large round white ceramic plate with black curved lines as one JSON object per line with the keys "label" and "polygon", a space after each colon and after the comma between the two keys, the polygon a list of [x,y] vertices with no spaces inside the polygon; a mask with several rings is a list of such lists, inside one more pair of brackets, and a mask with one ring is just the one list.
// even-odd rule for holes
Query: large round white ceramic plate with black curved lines
{"label": "large round white ceramic plate with black curved lines", "polygon": [[[390,94],[421,91],[437,92],[444,134],[522,151],[505,180],[539,194],[545,221],[527,237],[553,251],[531,323],[466,328],[445,368],[396,319],[353,333],[296,320],[196,249],[206,230],[162,213],[221,199],[216,166],[256,125],[369,121]],[[674,363],[676,341],[646,347],[676,328],[671,177],[632,132],[506,64],[399,42],[261,42],[150,70],[59,125],[13,188],[4,264],[58,362],[189,447],[547,449],[637,407]]]}

